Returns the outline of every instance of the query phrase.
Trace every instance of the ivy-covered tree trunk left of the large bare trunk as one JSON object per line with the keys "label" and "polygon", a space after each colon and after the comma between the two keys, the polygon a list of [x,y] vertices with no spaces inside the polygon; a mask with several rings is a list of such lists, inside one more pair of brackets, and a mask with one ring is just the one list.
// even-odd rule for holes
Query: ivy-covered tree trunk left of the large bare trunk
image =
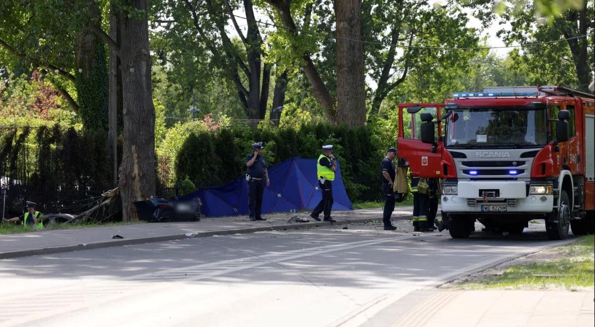
{"label": "ivy-covered tree trunk left of the large bare trunk", "polygon": [[[89,17],[101,20],[99,5],[87,0]],[[96,24],[93,21],[90,24]],[[108,71],[105,65],[105,43],[92,32],[90,26],[77,36],[76,89],[79,95],[79,116],[87,130],[108,127]]]}

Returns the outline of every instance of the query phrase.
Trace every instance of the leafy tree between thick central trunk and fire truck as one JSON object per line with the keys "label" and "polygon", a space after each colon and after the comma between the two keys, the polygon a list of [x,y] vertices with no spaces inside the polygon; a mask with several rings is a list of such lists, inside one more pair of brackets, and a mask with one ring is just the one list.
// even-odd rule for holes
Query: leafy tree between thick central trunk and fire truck
{"label": "leafy tree between thick central trunk and fire truck", "polygon": [[383,100],[412,71],[425,71],[418,75],[422,77],[432,73],[436,65],[464,64],[476,52],[447,49],[478,46],[476,31],[466,27],[468,18],[456,6],[439,7],[424,0],[378,0],[366,4],[365,37],[375,42],[366,47],[367,73],[377,84],[370,92],[372,115],[378,113]]}

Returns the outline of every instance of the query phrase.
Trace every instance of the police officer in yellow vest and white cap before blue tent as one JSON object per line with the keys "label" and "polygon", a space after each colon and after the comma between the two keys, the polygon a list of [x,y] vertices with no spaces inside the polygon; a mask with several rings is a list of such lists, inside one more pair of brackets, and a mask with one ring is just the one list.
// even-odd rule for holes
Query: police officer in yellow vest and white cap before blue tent
{"label": "police officer in yellow vest and white cap before blue tent", "polygon": [[314,220],[320,221],[318,215],[324,212],[324,221],[336,222],[331,218],[331,208],[333,207],[333,181],[336,170],[337,158],[333,156],[333,146],[325,145],[322,147],[322,154],[318,156],[316,173],[318,177],[318,187],[322,191],[322,200],[314,208],[310,216]]}

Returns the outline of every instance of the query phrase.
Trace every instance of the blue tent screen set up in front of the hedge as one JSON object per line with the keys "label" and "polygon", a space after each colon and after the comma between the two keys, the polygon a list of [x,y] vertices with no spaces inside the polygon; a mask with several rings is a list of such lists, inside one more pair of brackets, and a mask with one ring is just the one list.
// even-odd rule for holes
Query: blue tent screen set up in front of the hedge
{"label": "blue tent screen set up in front of the hedge", "polygon": [[[268,169],[271,185],[262,196],[262,213],[314,209],[322,199],[316,176],[316,159],[291,158]],[[221,187],[205,187],[176,201],[200,198],[208,217],[248,215],[248,184],[240,177]],[[333,182],[333,210],[353,210],[339,165]]]}

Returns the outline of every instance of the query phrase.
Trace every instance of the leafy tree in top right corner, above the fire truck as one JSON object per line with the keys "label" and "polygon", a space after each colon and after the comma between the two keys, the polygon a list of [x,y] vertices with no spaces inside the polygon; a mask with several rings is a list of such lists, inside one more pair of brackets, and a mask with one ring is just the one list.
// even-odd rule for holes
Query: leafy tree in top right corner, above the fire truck
{"label": "leafy tree in top right corner, above the fire truck", "polygon": [[[511,24],[511,29],[498,32],[508,45],[539,43],[515,49],[511,55],[528,67],[532,84],[566,83],[587,91],[594,68],[593,1],[563,1],[561,7],[554,4],[544,7],[541,0],[514,4],[496,11],[486,0],[470,5],[486,24],[493,21]],[[544,12],[547,17],[543,17]]]}

